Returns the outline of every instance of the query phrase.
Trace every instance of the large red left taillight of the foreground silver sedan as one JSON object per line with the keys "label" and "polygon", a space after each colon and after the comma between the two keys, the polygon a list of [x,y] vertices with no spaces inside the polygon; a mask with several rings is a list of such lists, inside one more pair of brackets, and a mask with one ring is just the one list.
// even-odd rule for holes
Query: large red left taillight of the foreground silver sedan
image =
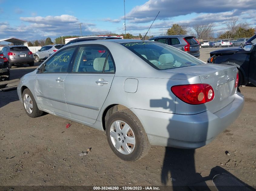
{"label": "large red left taillight of the foreground silver sedan", "polygon": [[185,103],[198,105],[214,98],[214,90],[209,84],[186,84],[171,87],[172,93]]}

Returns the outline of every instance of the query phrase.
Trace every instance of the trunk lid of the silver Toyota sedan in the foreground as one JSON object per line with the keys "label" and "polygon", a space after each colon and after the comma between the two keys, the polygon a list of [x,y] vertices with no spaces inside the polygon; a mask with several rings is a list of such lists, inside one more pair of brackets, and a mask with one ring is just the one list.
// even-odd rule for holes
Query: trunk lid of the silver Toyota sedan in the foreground
{"label": "trunk lid of the silver Toyota sedan in the foreground", "polygon": [[[234,100],[236,93],[235,81],[237,68],[221,64],[202,64],[184,68],[174,68],[170,72],[199,75],[203,84],[209,84],[214,89],[214,99],[207,102],[207,110],[215,113]],[[167,72],[167,71],[166,71]]]}

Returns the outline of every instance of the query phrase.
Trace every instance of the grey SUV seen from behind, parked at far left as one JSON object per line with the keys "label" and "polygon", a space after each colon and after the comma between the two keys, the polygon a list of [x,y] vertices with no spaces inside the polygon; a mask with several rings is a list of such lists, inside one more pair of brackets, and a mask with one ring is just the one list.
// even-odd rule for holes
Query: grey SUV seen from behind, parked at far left
{"label": "grey SUV seen from behind, parked at far left", "polygon": [[12,68],[12,65],[16,66],[23,64],[34,66],[33,53],[28,49],[27,46],[5,46],[1,53],[5,56],[5,58],[8,59],[9,68]]}

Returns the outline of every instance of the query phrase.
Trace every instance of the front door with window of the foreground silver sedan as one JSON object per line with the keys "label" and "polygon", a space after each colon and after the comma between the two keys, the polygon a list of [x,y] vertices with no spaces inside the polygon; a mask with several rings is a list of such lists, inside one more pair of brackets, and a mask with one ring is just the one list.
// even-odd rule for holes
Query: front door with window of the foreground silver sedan
{"label": "front door with window of the foreground silver sedan", "polygon": [[38,104],[50,113],[70,117],[64,94],[64,82],[76,47],[63,49],[50,58],[35,77]]}

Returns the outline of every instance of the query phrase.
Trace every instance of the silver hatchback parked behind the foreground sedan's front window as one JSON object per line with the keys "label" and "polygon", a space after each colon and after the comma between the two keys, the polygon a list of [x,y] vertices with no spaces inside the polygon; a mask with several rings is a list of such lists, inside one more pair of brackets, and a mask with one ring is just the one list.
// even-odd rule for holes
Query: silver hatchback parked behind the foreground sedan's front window
{"label": "silver hatchback parked behind the foreground sedan's front window", "polygon": [[43,46],[40,50],[38,50],[34,54],[34,58],[36,62],[40,62],[48,58],[49,55],[55,53],[58,49],[60,49],[64,44],[56,44],[56,45],[46,45]]}

